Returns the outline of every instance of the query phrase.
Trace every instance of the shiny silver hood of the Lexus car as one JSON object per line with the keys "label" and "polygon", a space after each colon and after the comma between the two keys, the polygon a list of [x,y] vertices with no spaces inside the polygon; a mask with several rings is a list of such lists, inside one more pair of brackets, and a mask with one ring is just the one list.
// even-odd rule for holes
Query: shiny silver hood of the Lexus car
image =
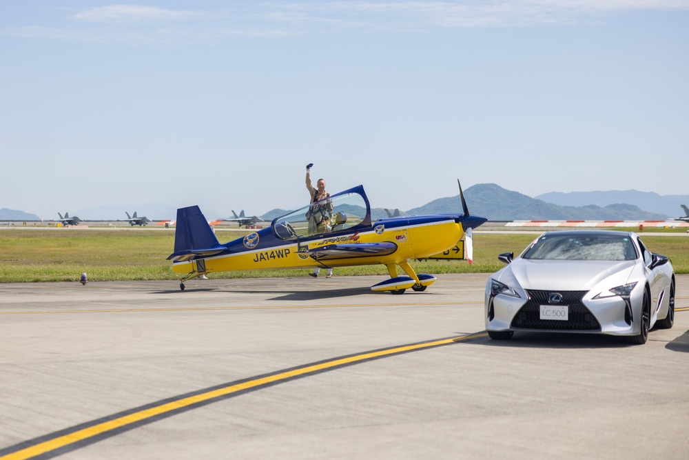
{"label": "shiny silver hood of the Lexus car", "polygon": [[509,268],[524,289],[590,290],[615,276],[626,283],[635,261],[561,261],[517,259]]}

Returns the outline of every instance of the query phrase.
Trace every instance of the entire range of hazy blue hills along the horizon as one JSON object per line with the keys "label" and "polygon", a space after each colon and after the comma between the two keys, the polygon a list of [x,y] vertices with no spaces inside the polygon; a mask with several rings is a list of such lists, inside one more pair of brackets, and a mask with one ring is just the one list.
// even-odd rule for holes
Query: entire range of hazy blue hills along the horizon
{"label": "entire range of hazy blue hills along the horizon", "polygon": [[[665,220],[683,216],[680,205],[689,205],[689,195],[659,195],[637,190],[612,190],[600,192],[551,192],[538,197],[528,197],[519,192],[506,190],[495,183],[480,183],[464,191],[471,214],[486,217],[490,221],[515,220]],[[85,220],[121,220],[125,211],[138,211],[138,215],[150,219],[174,219],[176,208],[165,203],[147,203],[127,206],[98,206],[76,210]],[[424,206],[400,214],[436,214],[461,212],[460,195],[435,199]],[[392,210],[391,210],[392,211]],[[265,221],[286,214],[289,210],[274,209],[260,216]],[[225,213],[229,214],[229,213]],[[213,219],[219,214],[208,212]],[[387,217],[384,208],[371,209],[373,220]],[[0,209],[0,220],[40,220],[35,214]]]}

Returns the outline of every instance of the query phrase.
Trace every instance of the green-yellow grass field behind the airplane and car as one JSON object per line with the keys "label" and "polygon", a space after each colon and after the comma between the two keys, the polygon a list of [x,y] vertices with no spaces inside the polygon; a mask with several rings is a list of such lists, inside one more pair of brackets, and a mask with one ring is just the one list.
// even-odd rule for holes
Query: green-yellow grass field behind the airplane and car
{"label": "green-yellow grass field behind the airplane and car", "polygon": [[[637,229],[628,229],[637,230]],[[653,232],[656,232],[654,229]],[[217,232],[221,242],[236,232]],[[677,273],[689,273],[689,239],[678,236],[644,236],[653,252],[672,259]],[[475,234],[474,259],[466,261],[414,261],[418,272],[490,273],[504,265],[501,252],[521,252],[534,234]],[[175,280],[172,263],[165,260],[174,248],[174,231],[160,230],[1,230],[0,283],[79,281]],[[211,274],[211,278],[302,277],[308,270],[263,270]],[[337,268],[336,274],[387,274],[384,266]]]}

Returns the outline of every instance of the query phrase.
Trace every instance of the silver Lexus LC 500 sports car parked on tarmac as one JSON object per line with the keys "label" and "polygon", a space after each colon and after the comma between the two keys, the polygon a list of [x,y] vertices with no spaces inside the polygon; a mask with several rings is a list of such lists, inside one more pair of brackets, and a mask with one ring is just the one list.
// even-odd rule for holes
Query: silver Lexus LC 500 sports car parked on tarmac
{"label": "silver Lexus LC 500 sports car parked on tarmac", "polygon": [[486,283],[491,339],[515,331],[586,332],[646,343],[653,326],[675,321],[675,272],[634,232],[546,232]]}

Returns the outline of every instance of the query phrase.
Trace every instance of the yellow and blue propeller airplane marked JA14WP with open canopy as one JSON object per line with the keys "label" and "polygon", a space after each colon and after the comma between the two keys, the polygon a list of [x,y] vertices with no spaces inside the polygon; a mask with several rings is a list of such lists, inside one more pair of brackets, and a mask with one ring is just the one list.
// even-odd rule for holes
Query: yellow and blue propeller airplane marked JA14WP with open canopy
{"label": "yellow and blue propeller airplane marked JA14WP with open canopy", "polygon": [[[459,181],[457,181],[459,184]],[[402,294],[425,290],[432,274],[416,274],[413,259],[468,259],[471,232],[487,219],[471,216],[460,185],[463,213],[393,217],[371,221],[363,186],[298,209],[245,237],[221,244],[198,206],[177,210],[172,270],[185,281],[234,270],[331,268],[374,265],[387,267],[390,279],[374,291]],[[398,276],[400,267],[407,276]]]}

